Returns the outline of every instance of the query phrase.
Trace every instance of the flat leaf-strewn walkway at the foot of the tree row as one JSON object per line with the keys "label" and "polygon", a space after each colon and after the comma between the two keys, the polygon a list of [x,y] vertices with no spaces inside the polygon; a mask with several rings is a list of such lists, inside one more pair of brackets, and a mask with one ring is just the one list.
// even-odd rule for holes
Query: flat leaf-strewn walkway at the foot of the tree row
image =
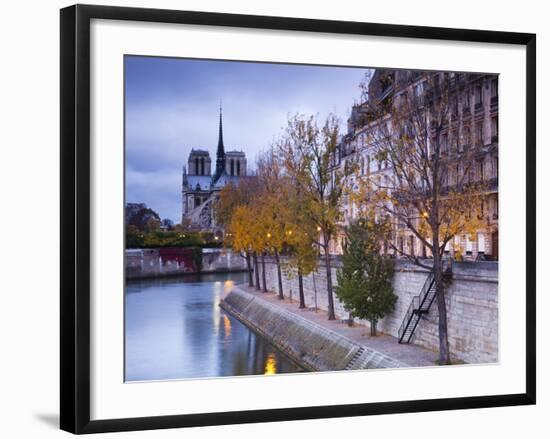
{"label": "flat leaf-strewn walkway at the foot of the tree row", "polygon": [[380,353],[386,354],[398,361],[401,361],[411,367],[434,366],[438,359],[437,352],[430,351],[414,344],[399,344],[397,338],[379,333],[376,337],[370,335],[370,330],[362,325],[355,324],[348,326],[347,322],[342,320],[328,320],[327,312],[315,310],[313,308],[298,308],[298,302],[285,297],[280,300],[276,293],[262,293],[255,288],[250,288],[245,284],[236,285],[239,289],[253,294],[267,302],[278,305],[286,311],[294,313],[304,319],[310,320],[320,326],[334,331],[357,344],[374,349]]}

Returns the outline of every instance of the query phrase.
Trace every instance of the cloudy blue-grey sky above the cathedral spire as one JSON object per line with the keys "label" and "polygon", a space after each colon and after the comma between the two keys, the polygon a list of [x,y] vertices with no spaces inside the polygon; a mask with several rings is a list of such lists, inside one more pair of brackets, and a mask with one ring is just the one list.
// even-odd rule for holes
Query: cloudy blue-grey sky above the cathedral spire
{"label": "cloudy blue-grey sky above the cathedral spire", "polygon": [[225,150],[249,168],[289,115],[336,114],[342,128],[365,68],[125,57],[126,202],[181,221],[181,174],[191,148],[216,162],[220,102]]}

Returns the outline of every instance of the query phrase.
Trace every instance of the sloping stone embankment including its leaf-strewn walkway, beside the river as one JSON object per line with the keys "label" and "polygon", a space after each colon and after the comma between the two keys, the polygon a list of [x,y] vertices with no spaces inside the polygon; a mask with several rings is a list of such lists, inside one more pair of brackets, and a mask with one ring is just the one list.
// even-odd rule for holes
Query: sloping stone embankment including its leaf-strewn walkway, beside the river
{"label": "sloping stone embankment including its leaf-strewn walkway, beside the river", "polygon": [[387,334],[372,337],[365,326],[329,321],[325,311],[300,309],[294,300],[245,285],[233,287],[220,306],[310,371],[425,367],[438,358],[421,346],[399,344]]}

